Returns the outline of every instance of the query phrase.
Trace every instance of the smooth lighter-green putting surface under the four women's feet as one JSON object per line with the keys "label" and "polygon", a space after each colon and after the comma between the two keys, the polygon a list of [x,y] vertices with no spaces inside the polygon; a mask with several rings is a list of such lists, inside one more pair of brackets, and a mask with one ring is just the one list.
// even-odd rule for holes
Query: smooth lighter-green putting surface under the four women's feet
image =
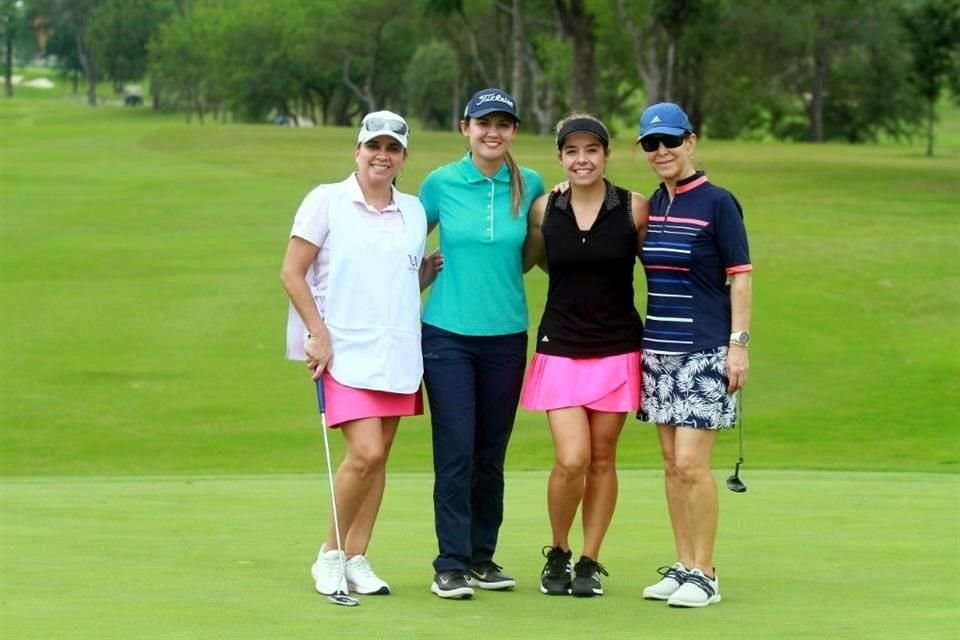
{"label": "smooth lighter-green putting surface under the four women's feet", "polygon": [[[498,560],[512,593],[429,593],[427,474],[392,476],[371,558],[394,589],[346,609],[313,591],[324,530],[318,476],[6,481],[0,494],[3,637],[950,640],[960,632],[957,476],[750,472],[721,495],[723,602],[675,610],[638,586],[672,560],[660,480],[621,476],[602,562],[606,595],[547,597],[546,472],[507,480]],[[722,481],[722,478],[718,476]],[[954,508],[945,508],[952,505]]]}

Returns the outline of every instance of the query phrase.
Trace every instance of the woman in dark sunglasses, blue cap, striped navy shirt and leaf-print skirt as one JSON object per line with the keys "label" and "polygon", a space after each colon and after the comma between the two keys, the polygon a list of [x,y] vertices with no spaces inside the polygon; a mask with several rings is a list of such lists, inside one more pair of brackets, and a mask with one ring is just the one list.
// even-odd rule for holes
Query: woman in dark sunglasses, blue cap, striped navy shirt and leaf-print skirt
{"label": "woman in dark sunglasses, blue cap, striped navy shirt and leaf-print skirt", "polygon": [[740,204],[694,168],[697,136],[683,110],[647,108],[638,142],[662,180],[641,256],[648,292],[641,417],[657,425],[678,556],[643,595],[703,607],[720,601],[710,460],[717,432],[736,423],[749,370],[752,266]]}

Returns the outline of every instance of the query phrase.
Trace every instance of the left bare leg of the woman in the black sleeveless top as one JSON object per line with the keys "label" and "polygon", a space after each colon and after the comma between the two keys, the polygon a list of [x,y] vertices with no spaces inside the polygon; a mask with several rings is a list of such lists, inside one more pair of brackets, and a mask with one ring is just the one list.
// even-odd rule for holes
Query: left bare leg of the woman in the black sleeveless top
{"label": "left bare leg of the woman in the black sleeveless top", "polygon": [[570,549],[570,527],[583,499],[590,464],[590,424],[582,407],[547,412],[555,460],[547,484],[552,546]]}

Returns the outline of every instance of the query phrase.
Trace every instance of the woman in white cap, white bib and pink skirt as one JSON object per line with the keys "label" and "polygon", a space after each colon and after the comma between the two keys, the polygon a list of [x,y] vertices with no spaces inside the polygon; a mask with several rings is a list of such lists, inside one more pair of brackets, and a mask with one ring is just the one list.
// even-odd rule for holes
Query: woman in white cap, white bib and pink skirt
{"label": "woman in white cap, white bib and pink skirt", "polygon": [[424,260],[420,201],[394,187],[408,134],[404,119],[390,111],[364,117],[356,171],[307,194],[283,260],[287,357],[305,360],[313,379],[322,378],[328,424],[346,444],[335,478],[343,549],[331,519],[311,570],[326,595],[390,593],[367,560],[367,546],[400,417],[423,413],[420,289],[442,263],[438,256]]}

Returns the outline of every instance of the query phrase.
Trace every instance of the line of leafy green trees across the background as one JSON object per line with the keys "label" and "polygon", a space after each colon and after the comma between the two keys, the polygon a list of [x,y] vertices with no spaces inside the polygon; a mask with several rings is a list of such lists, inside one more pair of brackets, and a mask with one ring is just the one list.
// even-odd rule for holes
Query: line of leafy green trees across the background
{"label": "line of leafy green trees across the background", "polygon": [[960,96],[960,0],[0,0],[13,59],[157,109],[346,125],[393,108],[449,128],[476,89],[546,133],[671,100],[712,137],[928,134]]}

